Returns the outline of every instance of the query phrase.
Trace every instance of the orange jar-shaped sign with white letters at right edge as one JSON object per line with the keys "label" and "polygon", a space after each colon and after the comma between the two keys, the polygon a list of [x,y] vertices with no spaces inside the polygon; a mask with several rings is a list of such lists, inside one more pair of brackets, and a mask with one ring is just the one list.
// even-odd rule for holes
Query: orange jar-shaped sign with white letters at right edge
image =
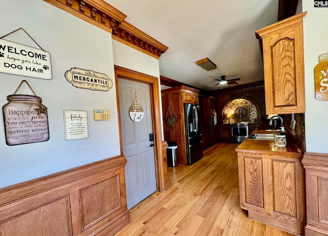
{"label": "orange jar-shaped sign with white letters at right edge", "polygon": [[328,53],[319,55],[319,64],[314,68],[316,99],[328,100]]}

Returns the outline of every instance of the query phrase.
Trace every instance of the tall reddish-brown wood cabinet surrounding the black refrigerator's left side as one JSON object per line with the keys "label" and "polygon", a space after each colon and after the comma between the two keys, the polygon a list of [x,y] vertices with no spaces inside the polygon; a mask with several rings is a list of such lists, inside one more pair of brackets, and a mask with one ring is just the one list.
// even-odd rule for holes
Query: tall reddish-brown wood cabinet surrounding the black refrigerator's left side
{"label": "tall reddish-brown wood cabinet surrounding the black refrigerator's left side", "polygon": [[[164,89],[161,91],[163,132],[166,141],[177,143],[177,162],[187,164],[186,130],[183,103],[198,104],[199,90],[184,85]],[[176,116],[176,126],[166,124],[168,115]]]}

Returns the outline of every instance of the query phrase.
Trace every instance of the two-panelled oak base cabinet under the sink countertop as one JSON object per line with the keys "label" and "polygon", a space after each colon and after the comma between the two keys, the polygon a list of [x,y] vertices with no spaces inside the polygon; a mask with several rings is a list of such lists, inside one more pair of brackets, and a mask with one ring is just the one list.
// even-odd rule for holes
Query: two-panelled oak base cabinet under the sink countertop
{"label": "two-panelled oak base cabinet under the sink countertop", "polygon": [[304,233],[301,154],[238,152],[240,207],[249,218],[285,231]]}

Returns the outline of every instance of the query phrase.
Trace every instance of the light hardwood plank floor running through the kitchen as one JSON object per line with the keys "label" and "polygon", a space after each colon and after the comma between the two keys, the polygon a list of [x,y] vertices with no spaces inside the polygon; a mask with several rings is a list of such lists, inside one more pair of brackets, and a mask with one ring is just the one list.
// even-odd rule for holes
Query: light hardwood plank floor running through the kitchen
{"label": "light hardwood plank floor running through the kitchen", "polygon": [[169,190],[134,206],[131,224],[117,235],[292,235],[247,218],[239,207],[237,146],[217,143],[196,163],[169,167]]}

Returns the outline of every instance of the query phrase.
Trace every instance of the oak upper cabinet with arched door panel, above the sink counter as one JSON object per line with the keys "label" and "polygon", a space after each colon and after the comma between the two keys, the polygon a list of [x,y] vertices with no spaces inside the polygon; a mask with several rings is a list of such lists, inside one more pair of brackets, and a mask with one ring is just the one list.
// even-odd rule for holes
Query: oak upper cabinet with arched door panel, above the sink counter
{"label": "oak upper cabinet with arched door panel, above the sink counter", "polygon": [[305,112],[303,17],[306,12],[255,32],[263,46],[267,114]]}

